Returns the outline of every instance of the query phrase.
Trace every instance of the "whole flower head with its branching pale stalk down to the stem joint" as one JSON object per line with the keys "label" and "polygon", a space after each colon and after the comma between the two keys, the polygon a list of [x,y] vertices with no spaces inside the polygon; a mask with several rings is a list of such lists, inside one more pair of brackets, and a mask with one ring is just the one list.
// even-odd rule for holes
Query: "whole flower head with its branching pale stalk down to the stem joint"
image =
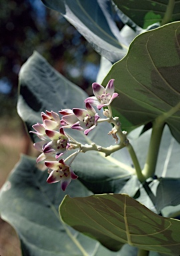
{"label": "whole flower head with its branching pale stalk down to the stem joint", "polygon": [[[111,103],[115,98],[119,97],[118,93],[115,93],[114,79],[111,79],[105,88],[98,83],[93,83],[92,86],[95,96],[85,99],[86,109],[61,109],[59,111],[59,114],[63,115],[61,119],[59,114],[54,111],[42,112],[43,123],[33,125],[35,131],[31,131],[41,139],[34,146],[41,152],[41,155],[37,157],[37,162],[44,161],[45,166],[49,168],[47,182],[56,183],[60,181],[63,191],[65,191],[72,179],[78,178],[71,168],[75,157],[80,152],[85,153],[87,151],[105,153],[105,157],[107,157],[115,151],[127,147],[133,159],[137,177],[139,181],[144,181],[135,151],[127,139],[127,132],[121,130],[119,117],[113,117]],[[95,105],[98,110],[105,107],[103,109],[105,118],[100,118],[100,114],[97,113],[92,105]],[[113,137],[115,145],[102,147],[95,142],[90,145],[83,145],[65,131],[65,129],[76,129],[77,131],[83,131],[84,135],[87,136],[92,130],[96,129],[97,125],[101,125],[103,122],[113,125],[108,135]],[[75,150],[75,152],[71,153],[65,160],[61,158],[67,151],[71,150]],[[68,165],[67,162],[69,162]]]}

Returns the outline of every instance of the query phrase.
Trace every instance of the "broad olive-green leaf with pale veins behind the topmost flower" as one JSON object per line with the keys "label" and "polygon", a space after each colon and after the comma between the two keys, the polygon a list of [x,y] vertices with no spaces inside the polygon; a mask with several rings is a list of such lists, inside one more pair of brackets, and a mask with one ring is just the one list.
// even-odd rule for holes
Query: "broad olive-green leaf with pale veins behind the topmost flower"
{"label": "broad olive-green leaf with pale veins behind the topmost flower", "polygon": [[[115,63],[103,81],[115,79],[119,99],[113,102],[123,128],[131,131],[180,102],[180,22],[171,23],[135,38],[127,55]],[[166,119],[180,142],[180,111]]]}

